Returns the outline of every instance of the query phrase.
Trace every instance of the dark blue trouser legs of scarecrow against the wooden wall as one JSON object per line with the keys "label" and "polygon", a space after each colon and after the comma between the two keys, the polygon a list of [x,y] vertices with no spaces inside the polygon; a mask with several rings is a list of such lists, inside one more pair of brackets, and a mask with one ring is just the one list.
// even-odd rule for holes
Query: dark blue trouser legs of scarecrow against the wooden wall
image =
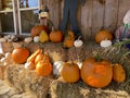
{"label": "dark blue trouser legs of scarecrow against the wooden wall", "polygon": [[[80,1],[82,5],[86,2],[86,0],[80,0]],[[77,38],[81,36],[80,30],[78,28],[77,21],[76,21],[76,11],[78,8],[78,3],[79,3],[78,0],[64,0],[63,20],[60,24],[60,29],[65,32],[66,24],[69,17],[72,30],[75,33]]]}

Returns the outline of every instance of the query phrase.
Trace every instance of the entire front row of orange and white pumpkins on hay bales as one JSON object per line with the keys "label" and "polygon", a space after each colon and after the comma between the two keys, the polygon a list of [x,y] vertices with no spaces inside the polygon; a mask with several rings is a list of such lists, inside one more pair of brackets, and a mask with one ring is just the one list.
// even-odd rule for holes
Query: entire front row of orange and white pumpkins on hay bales
{"label": "entire front row of orange and white pumpkins on hay bales", "polygon": [[26,48],[14,49],[12,59],[15,63],[24,64],[25,69],[36,70],[41,76],[60,73],[58,76],[67,83],[76,83],[81,78],[87,85],[101,88],[109,85],[112,79],[118,83],[126,79],[126,71],[121,64],[112,64],[99,56],[86,59],[81,68],[73,61],[58,62],[58,68],[53,68],[54,63],[50,61],[48,53],[42,53],[42,49],[31,54]]}

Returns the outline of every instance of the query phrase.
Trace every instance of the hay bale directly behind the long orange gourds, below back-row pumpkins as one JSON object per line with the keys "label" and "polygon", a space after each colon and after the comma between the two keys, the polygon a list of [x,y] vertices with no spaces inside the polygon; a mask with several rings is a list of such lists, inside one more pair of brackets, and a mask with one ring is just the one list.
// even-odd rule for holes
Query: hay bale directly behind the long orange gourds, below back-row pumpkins
{"label": "hay bale directly behind the long orange gourds, below back-row pumpkins", "polygon": [[24,44],[24,46],[29,49],[30,53],[35,52],[37,49],[43,49],[43,53],[48,53],[52,62],[55,61],[66,61],[67,60],[67,50],[63,48],[62,42],[29,42]]}

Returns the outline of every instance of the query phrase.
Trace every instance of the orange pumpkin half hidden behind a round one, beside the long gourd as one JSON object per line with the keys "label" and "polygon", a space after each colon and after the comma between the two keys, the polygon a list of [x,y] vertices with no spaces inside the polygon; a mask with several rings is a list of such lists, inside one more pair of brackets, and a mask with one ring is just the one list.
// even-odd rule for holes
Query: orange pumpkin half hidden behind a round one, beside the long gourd
{"label": "orange pumpkin half hidden behind a round one, beside the long gourd", "polygon": [[[44,59],[44,60],[43,60]],[[39,53],[37,57],[36,57],[36,59],[35,59],[35,63],[37,64],[38,62],[40,62],[40,61],[46,61],[46,62],[50,62],[50,58],[49,58],[49,56],[47,56],[47,54],[43,54],[43,53]]]}

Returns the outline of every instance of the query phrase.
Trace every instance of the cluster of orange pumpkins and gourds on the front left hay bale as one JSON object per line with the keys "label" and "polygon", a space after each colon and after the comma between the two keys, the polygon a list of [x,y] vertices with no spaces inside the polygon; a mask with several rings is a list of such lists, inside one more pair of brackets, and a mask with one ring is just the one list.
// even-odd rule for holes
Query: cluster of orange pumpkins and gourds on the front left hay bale
{"label": "cluster of orange pumpkins and gourds on the front left hay bale", "polygon": [[47,76],[52,72],[50,58],[48,54],[42,53],[40,48],[31,54],[29,54],[27,48],[16,48],[12,52],[12,60],[17,64],[24,64],[25,69],[36,70],[37,74],[41,76]]}

